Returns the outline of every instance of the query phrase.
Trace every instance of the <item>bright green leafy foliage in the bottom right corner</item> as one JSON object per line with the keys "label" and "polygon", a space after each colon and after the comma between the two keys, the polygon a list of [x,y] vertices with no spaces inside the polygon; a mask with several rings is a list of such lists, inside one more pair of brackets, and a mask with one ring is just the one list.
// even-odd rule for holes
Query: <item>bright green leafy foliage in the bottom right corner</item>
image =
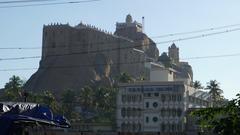
{"label": "bright green leafy foliage in the bottom right corner", "polygon": [[223,107],[206,108],[192,112],[198,118],[202,131],[219,135],[239,135],[240,94]]}

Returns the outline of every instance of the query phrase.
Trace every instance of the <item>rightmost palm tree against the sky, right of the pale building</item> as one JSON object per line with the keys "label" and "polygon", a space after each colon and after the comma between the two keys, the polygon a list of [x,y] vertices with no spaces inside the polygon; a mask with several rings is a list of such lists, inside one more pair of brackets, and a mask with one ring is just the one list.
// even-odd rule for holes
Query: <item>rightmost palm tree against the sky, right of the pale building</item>
{"label": "rightmost palm tree against the sky, right of the pale building", "polygon": [[206,89],[209,90],[209,94],[211,95],[212,106],[215,107],[217,101],[221,99],[221,94],[223,90],[220,89],[219,83],[216,80],[210,80],[207,83]]}

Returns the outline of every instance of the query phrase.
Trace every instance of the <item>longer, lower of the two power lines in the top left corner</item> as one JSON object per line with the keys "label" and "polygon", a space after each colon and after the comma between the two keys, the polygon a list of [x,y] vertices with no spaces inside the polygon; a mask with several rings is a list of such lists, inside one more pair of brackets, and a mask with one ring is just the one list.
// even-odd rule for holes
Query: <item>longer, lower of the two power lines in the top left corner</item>
{"label": "longer, lower of the two power lines in the top left corner", "polygon": [[66,5],[66,4],[90,3],[90,2],[96,2],[96,1],[101,1],[101,0],[81,0],[81,1],[68,1],[68,2],[25,4],[25,5],[8,5],[8,6],[0,6],[0,8],[34,7],[34,6],[48,6],[48,5]]}

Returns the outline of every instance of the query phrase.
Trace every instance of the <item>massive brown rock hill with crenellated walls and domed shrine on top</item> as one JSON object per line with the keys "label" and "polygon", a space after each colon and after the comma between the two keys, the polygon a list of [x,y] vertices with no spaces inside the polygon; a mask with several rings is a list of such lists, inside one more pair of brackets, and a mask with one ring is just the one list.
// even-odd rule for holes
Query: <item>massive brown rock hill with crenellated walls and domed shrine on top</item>
{"label": "massive brown rock hill with crenellated walls and domed shrine on top", "polygon": [[31,91],[66,89],[86,85],[112,85],[121,72],[146,75],[146,58],[157,60],[156,44],[141,31],[141,24],[117,23],[115,34],[94,26],[68,24],[44,26],[39,69],[26,82]]}

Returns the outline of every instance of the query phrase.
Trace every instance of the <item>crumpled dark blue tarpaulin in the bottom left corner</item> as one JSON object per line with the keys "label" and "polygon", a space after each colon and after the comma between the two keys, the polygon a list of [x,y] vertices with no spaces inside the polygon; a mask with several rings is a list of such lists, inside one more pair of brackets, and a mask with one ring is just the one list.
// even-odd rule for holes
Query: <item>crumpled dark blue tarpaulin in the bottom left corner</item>
{"label": "crumpled dark blue tarpaulin in the bottom left corner", "polygon": [[10,135],[18,125],[48,125],[69,128],[69,121],[54,115],[50,108],[34,103],[0,103],[0,133]]}

